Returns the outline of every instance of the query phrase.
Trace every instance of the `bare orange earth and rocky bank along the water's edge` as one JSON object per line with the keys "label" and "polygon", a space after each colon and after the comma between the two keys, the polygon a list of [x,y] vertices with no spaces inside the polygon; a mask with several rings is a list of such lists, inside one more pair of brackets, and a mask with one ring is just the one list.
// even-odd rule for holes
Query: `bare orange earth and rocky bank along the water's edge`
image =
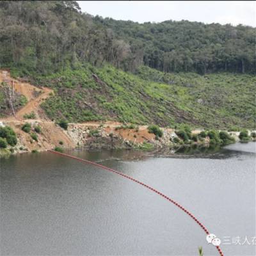
{"label": "bare orange earth and rocky bank along the water's edge", "polygon": [[[31,134],[22,131],[22,125],[31,125],[31,131],[40,126],[40,133],[36,134],[36,141]],[[4,120],[0,126],[10,126],[17,134],[15,147],[0,149],[0,157],[27,152],[45,152],[61,148],[72,150],[83,147],[86,150],[95,149],[134,149],[145,152],[168,152],[175,154],[180,148],[209,147],[209,136],[193,141],[192,138],[184,143],[175,132],[175,129],[159,128],[161,137],[148,131],[147,125],[124,125],[120,122],[86,122],[82,124],[69,123],[67,130],[49,120]],[[198,136],[204,130],[191,131],[191,136]],[[250,131],[252,132],[252,131]],[[239,132],[228,132],[239,141]],[[196,137],[197,138],[197,137]],[[220,143],[216,143],[220,145]]]}

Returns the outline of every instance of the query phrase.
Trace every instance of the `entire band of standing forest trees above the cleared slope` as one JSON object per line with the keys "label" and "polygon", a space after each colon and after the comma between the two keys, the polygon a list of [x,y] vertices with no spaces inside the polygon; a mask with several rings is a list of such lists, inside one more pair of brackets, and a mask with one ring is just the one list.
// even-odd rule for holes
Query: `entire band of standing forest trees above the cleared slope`
{"label": "entire band of standing forest trees above the cleared slope", "polygon": [[104,62],[133,72],[255,72],[255,28],[144,23],[82,13],[76,1],[0,1],[0,65],[58,72]]}

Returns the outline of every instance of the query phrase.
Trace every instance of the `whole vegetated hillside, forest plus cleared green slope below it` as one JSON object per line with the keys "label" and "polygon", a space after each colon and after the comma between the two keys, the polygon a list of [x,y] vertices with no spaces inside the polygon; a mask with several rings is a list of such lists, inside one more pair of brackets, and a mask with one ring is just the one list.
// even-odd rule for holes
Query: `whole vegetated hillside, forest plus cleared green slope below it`
{"label": "whole vegetated hillside, forest plus cleared green slope below it", "polygon": [[0,1],[0,65],[54,89],[42,104],[52,120],[253,128],[254,50],[248,26],[138,24],[75,1]]}

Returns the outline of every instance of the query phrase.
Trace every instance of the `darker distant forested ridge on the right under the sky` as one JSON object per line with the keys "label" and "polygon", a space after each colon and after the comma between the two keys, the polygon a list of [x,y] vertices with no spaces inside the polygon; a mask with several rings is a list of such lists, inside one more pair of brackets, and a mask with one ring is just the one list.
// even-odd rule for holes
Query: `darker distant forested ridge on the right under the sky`
{"label": "darker distant forested ridge on the right under the sky", "polygon": [[188,20],[139,24],[99,16],[94,20],[128,42],[134,58],[140,49],[144,65],[164,72],[255,72],[256,29],[250,26]]}

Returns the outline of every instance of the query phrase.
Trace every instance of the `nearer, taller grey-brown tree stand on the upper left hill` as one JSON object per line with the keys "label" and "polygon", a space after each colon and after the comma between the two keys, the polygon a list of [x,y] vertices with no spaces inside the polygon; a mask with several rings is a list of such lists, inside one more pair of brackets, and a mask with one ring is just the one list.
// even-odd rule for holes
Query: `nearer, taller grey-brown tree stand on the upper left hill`
{"label": "nearer, taller grey-brown tree stand on the upper left hill", "polygon": [[76,1],[0,1],[0,65],[57,72],[84,61],[120,67],[129,45],[81,13]]}

